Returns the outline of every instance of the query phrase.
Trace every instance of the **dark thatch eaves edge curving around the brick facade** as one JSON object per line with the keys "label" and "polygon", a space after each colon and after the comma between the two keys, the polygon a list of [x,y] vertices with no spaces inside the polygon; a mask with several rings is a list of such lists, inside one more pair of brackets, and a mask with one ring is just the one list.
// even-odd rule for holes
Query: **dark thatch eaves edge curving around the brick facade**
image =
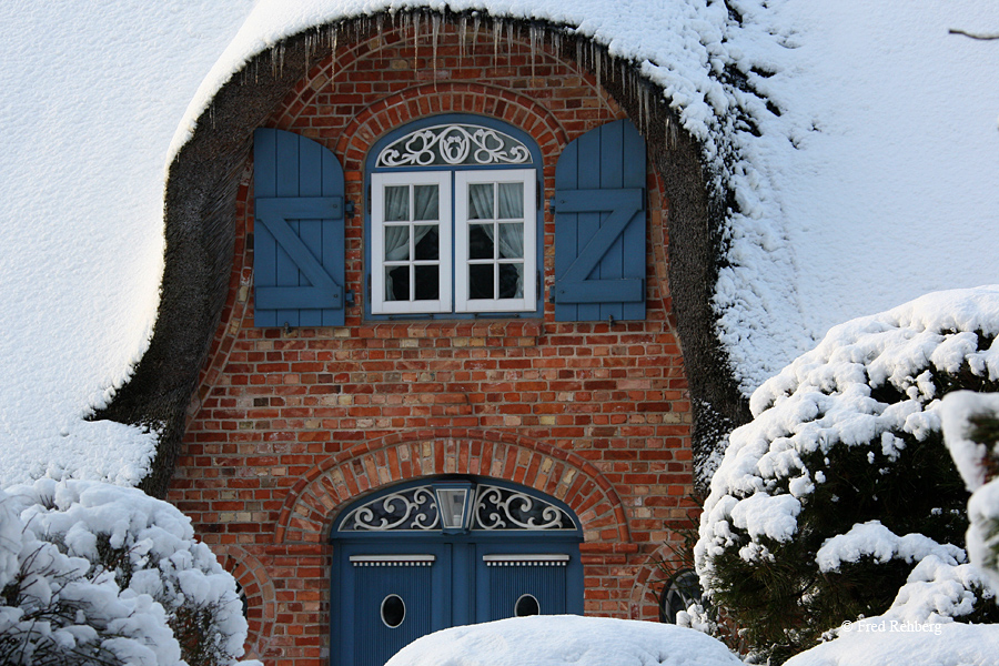
{"label": "dark thatch eaves edge curving around the brick facade", "polygon": [[[425,18],[433,12],[421,13]],[[450,22],[461,18],[443,14]],[[236,191],[253,130],[311,64],[329,57],[331,44],[365,39],[383,22],[398,20],[400,14],[387,13],[344,20],[299,33],[258,54],[222,87],[170,165],[165,271],[153,339],[132,380],[94,416],[153,425],[161,432],[152,472],[140,484],[148,493],[165,495],[186,407],[225,303]],[[707,183],[716,180],[700,161],[699,143],[679,128],[662,89],[644,79],[635,63],[625,62],[622,68],[603,46],[565,27],[483,17],[482,12],[478,20],[502,22],[502,33],[521,34],[533,28],[561,57],[599,72],[601,83],[645,135],[669,200],[670,296],[694,405],[694,458],[699,468],[710,457],[718,436],[748,420],[745,398],[716,335],[712,309],[723,255],[724,215],[734,208],[730,193],[710,190]],[[601,67],[596,67],[597,60]],[[623,77],[622,71],[628,74]]]}

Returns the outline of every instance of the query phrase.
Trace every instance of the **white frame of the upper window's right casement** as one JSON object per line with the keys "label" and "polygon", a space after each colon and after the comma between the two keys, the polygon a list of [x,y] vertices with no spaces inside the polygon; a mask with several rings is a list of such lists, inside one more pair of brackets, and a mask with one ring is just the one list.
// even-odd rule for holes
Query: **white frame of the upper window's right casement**
{"label": "white frame of the upper window's right casement", "polygon": [[[475,183],[524,185],[524,294],[517,299],[470,299],[468,186]],[[537,309],[537,172],[534,169],[488,169],[454,172],[454,311],[531,312]],[[495,243],[498,245],[500,240]],[[500,262],[502,263],[502,261]]]}

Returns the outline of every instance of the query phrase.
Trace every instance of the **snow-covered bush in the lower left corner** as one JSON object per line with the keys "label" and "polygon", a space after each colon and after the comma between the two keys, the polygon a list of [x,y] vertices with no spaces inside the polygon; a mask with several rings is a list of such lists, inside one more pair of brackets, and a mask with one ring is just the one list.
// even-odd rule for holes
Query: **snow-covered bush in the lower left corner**
{"label": "snow-covered bush in the lower left corner", "polygon": [[193,536],[134,488],[0,492],[0,666],[234,664],[246,636],[235,582]]}

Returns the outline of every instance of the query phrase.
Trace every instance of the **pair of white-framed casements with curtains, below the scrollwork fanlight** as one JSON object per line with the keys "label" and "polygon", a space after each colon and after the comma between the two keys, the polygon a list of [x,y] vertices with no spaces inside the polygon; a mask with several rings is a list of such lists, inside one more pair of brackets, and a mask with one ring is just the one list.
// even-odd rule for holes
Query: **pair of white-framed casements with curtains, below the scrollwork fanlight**
{"label": "pair of white-framed casements with curtains, below the scrollwork fanlight", "polygon": [[373,312],[535,310],[535,188],[532,169],[373,174]]}

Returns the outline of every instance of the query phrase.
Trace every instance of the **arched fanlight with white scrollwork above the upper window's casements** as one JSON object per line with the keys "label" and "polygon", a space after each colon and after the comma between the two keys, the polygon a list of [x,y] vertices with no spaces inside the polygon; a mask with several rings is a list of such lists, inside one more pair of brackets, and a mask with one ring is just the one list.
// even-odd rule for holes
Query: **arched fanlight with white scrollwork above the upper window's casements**
{"label": "arched fanlight with white scrollwork above the upper window's casements", "polygon": [[376,167],[529,164],[526,145],[498,130],[472,124],[434,125],[386,145]]}

